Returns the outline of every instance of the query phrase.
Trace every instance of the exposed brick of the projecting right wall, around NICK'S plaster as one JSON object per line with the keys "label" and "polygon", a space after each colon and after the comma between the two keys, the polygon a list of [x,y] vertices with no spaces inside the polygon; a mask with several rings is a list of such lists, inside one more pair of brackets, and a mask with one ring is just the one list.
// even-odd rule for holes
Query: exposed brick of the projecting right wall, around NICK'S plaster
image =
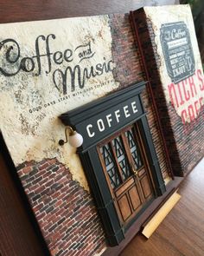
{"label": "exposed brick of the projecting right wall, around NICK'S plaster", "polygon": [[204,108],[202,106],[200,115],[194,121],[182,124],[182,119],[176,114],[175,108],[165,100],[158,73],[161,63],[157,55],[153,24],[145,16],[143,9],[135,11],[134,14],[156,106],[161,117],[163,134],[169,148],[171,165],[175,175],[183,176],[192,170],[204,154]]}

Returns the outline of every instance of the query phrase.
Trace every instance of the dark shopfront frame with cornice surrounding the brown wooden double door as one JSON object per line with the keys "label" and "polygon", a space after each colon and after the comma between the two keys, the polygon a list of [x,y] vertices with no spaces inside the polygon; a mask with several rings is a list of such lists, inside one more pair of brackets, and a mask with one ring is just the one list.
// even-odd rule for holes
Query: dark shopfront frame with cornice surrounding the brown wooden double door
{"label": "dark shopfront frame with cornice surrounding the brown wooden double door", "polygon": [[[130,226],[124,226],[118,218],[112,194],[99,160],[97,145],[100,141],[105,140],[105,138],[121,128],[137,121],[143,145],[146,148],[146,155],[149,160],[150,170],[155,184],[156,196],[163,195],[166,191],[141,98],[141,93],[145,88],[146,83],[147,82],[138,82],[136,84],[131,84],[125,89],[112,93],[112,95],[107,95],[99,100],[90,102],[85,106],[75,108],[59,116],[66,126],[71,126],[84,138],[82,146],[78,148],[78,154],[104,226],[109,246],[117,246],[124,240],[127,228]],[[126,109],[126,106],[131,106],[132,103],[136,103],[137,109],[135,108],[135,105],[133,105],[133,110],[136,111],[133,111],[128,118],[123,114],[120,122],[112,121],[114,122],[114,125],[105,128],[103,132],[94,130],[94,135],[92,133],[92,137],[90,137],[90,134],[88,135],[87,127],[93,128],[93,125],[90,126],[90,124],[95,124],[97,121],[105,119],[105,116],[119,111],[121,108]],[[122,115],[122,110],[120,114]],[[132,221],[135,220],[136,219]]]}

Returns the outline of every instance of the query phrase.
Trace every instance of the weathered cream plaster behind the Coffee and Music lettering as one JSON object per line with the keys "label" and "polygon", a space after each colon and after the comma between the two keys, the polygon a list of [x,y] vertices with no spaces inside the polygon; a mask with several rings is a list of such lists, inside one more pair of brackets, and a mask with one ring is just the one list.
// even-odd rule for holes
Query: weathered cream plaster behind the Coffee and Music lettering
{"label": "weathered cream plaster behind the Coffee and Music lettering", "polygon": [[[80,88],[78,75],[75,75],[75,88],[71,89],[69,69],[80,67],[83,74],[84,69],[90,72],[93,67],[96,72],[96,65],[99,63],[100,69],[104,63],[106,67],[109,63],[111,69],[114,68],[108,22],[108,16],[92,16],[0,25],[0,41],[3,42],[0,68],[8,74],[14,74],[21,67],[23,57],[33,60],[27,59],[26,62],[26,69],[33,69],[30,72],[21,69],[12,76],[5,76],[0,72],[0,128],[16,166],[23,161],[56,157],[70,168],[73,179],[88,189],[75,148],[68,144],[63,147],[58,145],[58,141],[65,136],[64,126],[58,116],[118,88],[119,84],[114,81],[112,70],[109,70],[86,79],[83,88]],[[54,36],[48,38],[50,34]],[[38,36],[41,36],[38,39],[40,55],[46,54],[46,38],[51,52],[50,69],[48,56],[40,57],[40,75],[37,57],[33,57],[36,56],[35,44]],[[44,39],[42,36],[45,36]],[[20,47],[18,60],[17,45],[5,43],[4,40],[8,38],[15,40]],[[9,52],[10,46],[13,49]],[[58,52],[55,59],[60,64],[54,62],[55,52]],[[11,61],[15,61],[14,64],[6,60],[6,53],[9,53]],[[63,92],[61,74],[65,74],[66,69],[67,92]]]}

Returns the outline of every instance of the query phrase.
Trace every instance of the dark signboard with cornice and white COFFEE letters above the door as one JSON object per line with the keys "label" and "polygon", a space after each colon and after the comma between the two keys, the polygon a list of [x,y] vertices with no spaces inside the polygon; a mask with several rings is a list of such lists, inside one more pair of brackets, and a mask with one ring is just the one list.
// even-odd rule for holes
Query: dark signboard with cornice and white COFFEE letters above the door
{"label": "dark signboard with cornice and white COFFEE letters above the door", "polygon": [[60,118],[64,124],[80,132],[84,138],[82,149],[86,150],[143,115],[139,94],[144,84],[131,85],[130,88],[69,111]]}

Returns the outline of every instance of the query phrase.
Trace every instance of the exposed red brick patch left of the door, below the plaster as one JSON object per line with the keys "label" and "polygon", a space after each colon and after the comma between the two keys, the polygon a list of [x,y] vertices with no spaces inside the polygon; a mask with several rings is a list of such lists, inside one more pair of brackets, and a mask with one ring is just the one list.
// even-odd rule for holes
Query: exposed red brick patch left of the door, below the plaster
{"label": "exposed red brick patch left of the door, below the plaster", "polygon": [[[77,171],[77,170],[76,170]],[[18,167],[51,255],[94,255],[105,237],[92,197],[56,159]]]}

